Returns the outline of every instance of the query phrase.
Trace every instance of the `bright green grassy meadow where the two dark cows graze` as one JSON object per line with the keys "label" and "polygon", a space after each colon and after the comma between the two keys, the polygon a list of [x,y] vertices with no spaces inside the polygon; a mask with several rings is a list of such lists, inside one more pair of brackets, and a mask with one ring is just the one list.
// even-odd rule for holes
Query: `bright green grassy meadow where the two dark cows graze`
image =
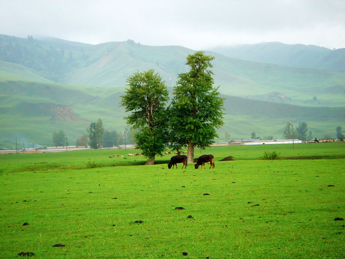
{"label": "bright green grassy meadow where the two dark cows graze", "polygon": [[345,143],[196,149],[198,170],[134,152],[0,155],[0,258],[345,257]]}

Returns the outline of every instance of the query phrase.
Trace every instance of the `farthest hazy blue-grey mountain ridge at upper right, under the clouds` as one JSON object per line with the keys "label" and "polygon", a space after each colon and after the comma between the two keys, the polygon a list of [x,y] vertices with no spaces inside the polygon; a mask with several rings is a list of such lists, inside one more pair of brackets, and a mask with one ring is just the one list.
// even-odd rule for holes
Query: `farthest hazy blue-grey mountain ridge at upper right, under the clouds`
{"label": "farthest hazy blue-grey mountain ridge at upper right, under the clouds", "polygon": [[345,72],[345,48],[331,50],[315,45],[262,42],[219,46],[212,50],[231,58],[254,62]]}

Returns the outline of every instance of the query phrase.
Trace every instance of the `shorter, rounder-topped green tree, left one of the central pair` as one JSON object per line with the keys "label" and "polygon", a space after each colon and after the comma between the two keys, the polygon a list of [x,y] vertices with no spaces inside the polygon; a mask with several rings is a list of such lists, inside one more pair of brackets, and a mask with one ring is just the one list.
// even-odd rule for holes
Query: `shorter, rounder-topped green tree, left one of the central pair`
{"label": "shorter, rounder-topped green tree, left one of the central pair", "polygon": [[167,142],[167,112],[169,100],[165,81],[154,70],[136,72],[127,78],[129,88],[121,96],[121,105],[126,112],[127,124],[135,132],[136,148],[148,158],[146,164],[154,164],[155,156],[162,155]]}

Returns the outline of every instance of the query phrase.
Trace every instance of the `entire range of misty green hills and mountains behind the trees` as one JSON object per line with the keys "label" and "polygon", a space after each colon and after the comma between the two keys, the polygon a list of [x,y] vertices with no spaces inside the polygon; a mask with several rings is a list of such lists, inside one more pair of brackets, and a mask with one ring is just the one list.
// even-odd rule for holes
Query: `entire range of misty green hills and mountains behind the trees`
{"label": "entire range of misty green hills and mountains behind the trees", "polygon": [[[119,101],[127,77],[153,68],[172,91],[194,52],[133,40],[91,45],[0,35],[1,138],[40,136],[44,141],[36,142],[47,143],[66,128],[73,140],[97,118],[109,130],[123,130]],[[225,131],[280,138],[287,122],[302,121],[319,137],[335,134],[345,114],[344,49],[269,42],[205,54],[215,56],[215,86],[226,98],[220,140]]]}

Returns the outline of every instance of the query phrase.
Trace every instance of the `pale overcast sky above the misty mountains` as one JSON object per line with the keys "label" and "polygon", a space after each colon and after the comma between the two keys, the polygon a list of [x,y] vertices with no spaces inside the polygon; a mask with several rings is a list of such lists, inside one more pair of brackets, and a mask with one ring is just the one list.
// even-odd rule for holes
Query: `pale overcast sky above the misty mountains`
{"label": "pale overcast sky above the misty mountains", "polygon": [[0,0],[0,34],[207,50],[280,41],[345,47],[345,0]]}

